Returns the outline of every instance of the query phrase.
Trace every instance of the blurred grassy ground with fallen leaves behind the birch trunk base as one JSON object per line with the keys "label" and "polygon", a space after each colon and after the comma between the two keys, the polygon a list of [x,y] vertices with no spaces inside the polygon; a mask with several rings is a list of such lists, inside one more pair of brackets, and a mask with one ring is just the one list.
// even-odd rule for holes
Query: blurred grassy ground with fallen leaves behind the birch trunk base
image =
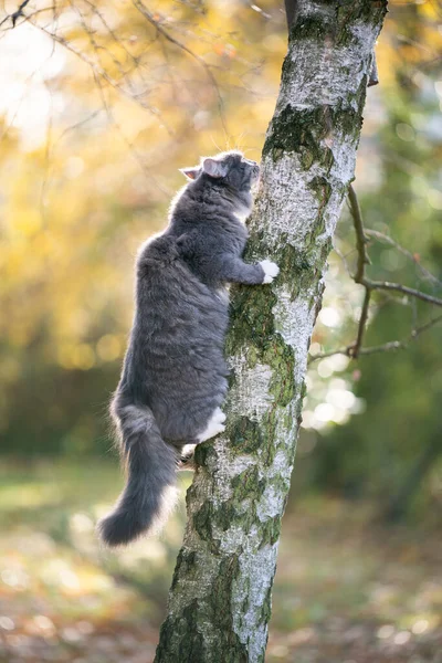
{"label": "blurred grassy ground with fallen leaves behind the birch trunk base", "polygon": [[[107,552],[94,523],[119,485],[115,463],[3,463],[1,663],[154,660],[183,509],[160,539]],[[267,663],[442,663],[441,548],[434,526],[385,528],[364,504],[292,501]]]}

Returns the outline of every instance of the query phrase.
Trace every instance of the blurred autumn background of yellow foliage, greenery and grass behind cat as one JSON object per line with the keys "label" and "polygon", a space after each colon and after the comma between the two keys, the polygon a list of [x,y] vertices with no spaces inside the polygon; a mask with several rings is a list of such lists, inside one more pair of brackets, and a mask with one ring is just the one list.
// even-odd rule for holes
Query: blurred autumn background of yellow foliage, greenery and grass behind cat
{"label": "blurred autumn background of yellow foliage, greenery and grass behind cat", "polygon": [[[156,540],[110,554],[94,535],[123,484],[106,410],[134,256],[166,224],[178,168],[260,158],[283,3],[24,4],[13,28],[19,3],[0,2],[0,661],[148,663],[183,499]],[[441,297],[442,6],[389,6],[355,181],[380,233],[368,274]],[[355,260],[344,209],[312,355],[356,337]],[[270,662],[442,661],[436,316],[377,294],[365,345],[407,347],[311,364]]]}

